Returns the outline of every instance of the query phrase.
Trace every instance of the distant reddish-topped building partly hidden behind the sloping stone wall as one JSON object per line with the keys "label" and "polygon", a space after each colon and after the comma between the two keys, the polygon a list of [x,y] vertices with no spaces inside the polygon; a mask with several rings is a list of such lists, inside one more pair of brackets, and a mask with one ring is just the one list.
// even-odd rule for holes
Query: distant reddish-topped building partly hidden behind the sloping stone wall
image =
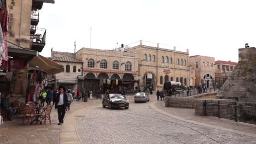
{"label": "distant reddish-topped building partly hidden behind the sloping stone wall", "polygon": [[236,64],[237,63],[231,61],[215,62],[215,81],[219,86],[223,86],[223,83],[232,74],[232,71],[236,67]]}

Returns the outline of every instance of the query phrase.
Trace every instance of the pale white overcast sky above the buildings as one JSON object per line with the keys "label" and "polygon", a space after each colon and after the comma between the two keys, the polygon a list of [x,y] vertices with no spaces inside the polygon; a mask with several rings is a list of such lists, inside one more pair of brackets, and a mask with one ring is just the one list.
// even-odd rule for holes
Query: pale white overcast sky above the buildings
{"label": "pale white overcast sky above the buildings", "polygon": [[[39,27],[50,51],[112,50],[139,40],[176,46],[189,55],[238,62],[238,49],[256,47],[252,0],[55,0],[44,3]],[[91,31],[90,31],[91,28]],[[118,44],[117,44],[118,43]]]}

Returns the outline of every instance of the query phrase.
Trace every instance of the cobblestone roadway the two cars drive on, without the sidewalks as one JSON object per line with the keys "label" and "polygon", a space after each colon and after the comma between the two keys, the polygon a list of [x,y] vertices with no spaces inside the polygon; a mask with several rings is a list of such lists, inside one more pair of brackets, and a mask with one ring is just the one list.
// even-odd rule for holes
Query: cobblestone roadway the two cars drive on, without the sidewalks
{"label": "cobblestone roadway the two cars drive on, without the sidewalks", "polygon": [[[191,124],[133,103],[130,109],[109,110],[101,104],[80,113],[76,128],[83,143],[256,143],[256,137]],[[153,98],[152,98],[153,100]]]}

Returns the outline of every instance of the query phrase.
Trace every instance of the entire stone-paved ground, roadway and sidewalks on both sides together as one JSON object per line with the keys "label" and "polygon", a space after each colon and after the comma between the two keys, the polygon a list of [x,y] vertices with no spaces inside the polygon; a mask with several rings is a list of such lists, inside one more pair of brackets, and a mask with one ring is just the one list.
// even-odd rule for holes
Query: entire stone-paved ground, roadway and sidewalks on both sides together
{"label": "entire stone-paved ground, roadway and sidewalks on both sides together", "polygon": [[21,118],[0,126],[0,143],[256,143],[256,126],[194,115],[193,109],[164,107],[150,95],[147,103],[109,110],[101,100],[75,102],[57,125],[21,124]]}

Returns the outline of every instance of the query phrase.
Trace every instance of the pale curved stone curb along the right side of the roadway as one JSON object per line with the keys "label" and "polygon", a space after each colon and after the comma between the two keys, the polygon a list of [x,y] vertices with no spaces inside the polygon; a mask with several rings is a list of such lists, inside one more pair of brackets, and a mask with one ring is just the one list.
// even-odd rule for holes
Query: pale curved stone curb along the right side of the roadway
{"label": "pale curved stone curb along the right side of the roadway", "polygon": [[[179,119],[181,121],[184,121],[184,122],[188,122],[188,123],[191,123],[191,124],[196,124],[196,125],[201,125],[201,126],[204,126],[204,127],[208,127],[208,128],[213,128],[213,129],[218,129],[218,130],[224,130],[224,131],[228,131],[230,133],[235,133],[235,134],[239,134],[239,135],[245,135],[245,136],[252,136],[252,137],[256,137],[256,134],[251,134],[251,133],[246,133],[246,132],[243,132],[243,131],[238,131],[238,130],[233,130],[233,129],[227,129],[227,128],[223,128],[223,127],[218,127],[216,125],[212,125],[212,124],[207,124],[207,123],[201,123],[201,122],[196,122],[196,121],[191,121],[191,120],[188,120],[188,119],[185,119],[183,117],[179,117],[179,116],[175,116],[175,115],[172,115],[171,113],[168,113],[168,112],[165,112],[161,109],[158,109],[158,107],[155,106],[155,103],[157,103],[158,101],[154,101],[153,103],[150,103],[149,104],[149,107],[155,111],[158,111],[160,113],[162,113],[163,115],[166,115],[168,117],[172,117],[172,118],[176,118],[176,119]],[[241,124],[241,123],[240,123]],[[248,125],[248,124],[245,124],[245,125]]]}

